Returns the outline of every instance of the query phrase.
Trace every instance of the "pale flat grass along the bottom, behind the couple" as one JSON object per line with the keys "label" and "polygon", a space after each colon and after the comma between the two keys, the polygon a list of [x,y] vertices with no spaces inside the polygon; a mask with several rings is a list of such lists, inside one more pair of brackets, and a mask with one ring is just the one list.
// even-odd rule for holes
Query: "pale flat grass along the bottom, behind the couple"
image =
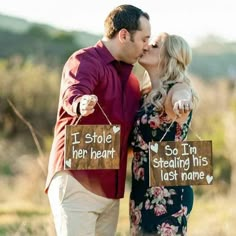
{"label": "pale flat grass along the bottom, behind the couple", "polygon": [[[117,236],[129,235],[128,190],[121,200]],[[233,236],[236,206],[233,197],[215,196],[195,199],[189,219],[189,236]],[[54,236],[50,210],[26,203],[0,205],[1,236]]]}

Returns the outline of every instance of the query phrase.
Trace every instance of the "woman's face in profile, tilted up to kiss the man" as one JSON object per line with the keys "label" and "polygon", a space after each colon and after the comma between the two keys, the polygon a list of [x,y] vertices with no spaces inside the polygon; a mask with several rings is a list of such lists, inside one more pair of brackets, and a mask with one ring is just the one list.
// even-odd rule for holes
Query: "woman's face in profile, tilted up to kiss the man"
{"label": "woman's face in profile, tilted up to kiss the man", "polygon": [[160,63],[160,54],[163,50],[163,43],[165,41],[166,35],[161,34],[158,36],[148,48],[148,51],[138,60],[139,64],[143,66],[146,70],[150,68],[158,68]]}

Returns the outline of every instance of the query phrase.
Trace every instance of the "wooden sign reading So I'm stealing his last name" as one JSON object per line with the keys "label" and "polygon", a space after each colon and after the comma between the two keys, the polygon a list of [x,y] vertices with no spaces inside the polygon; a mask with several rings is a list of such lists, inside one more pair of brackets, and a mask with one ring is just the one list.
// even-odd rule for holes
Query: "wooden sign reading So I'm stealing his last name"
{"label": "wooden sign reading So I'm stealing his last name", "polygon": [[150,143],[150,186],[209,185],[212,183],[211,141]]}

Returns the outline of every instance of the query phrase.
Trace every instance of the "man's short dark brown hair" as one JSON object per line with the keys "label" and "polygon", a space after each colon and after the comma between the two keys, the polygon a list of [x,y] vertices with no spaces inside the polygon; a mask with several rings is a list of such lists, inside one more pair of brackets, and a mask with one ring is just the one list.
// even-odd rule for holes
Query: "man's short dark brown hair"
{"label": "man's short dark brown hair", "polygon": [[149,20],[149,15],[132,5],[120,5],[112,10],[105,19],[105,36],[113,38],[121,29],[126,29],[131,35],[140,28],[140,17]]}

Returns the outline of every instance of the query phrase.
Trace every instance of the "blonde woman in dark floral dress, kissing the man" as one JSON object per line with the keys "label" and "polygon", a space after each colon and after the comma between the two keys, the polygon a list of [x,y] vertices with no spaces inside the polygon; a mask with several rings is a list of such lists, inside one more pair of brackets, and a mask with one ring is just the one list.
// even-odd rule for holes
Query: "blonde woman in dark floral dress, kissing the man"
{"label": "blonde woman in dark floral dress, kissing the man", "polygon": [[[191,186],[149,186],[149,142],[186,138],[197,100],[186,75],[191,48],[162,33],[140,58],[151,86],[144,94],[132,133],[131,235],[186,235],[193,206]],[[147,91],[145,89],[145,91]]]}

